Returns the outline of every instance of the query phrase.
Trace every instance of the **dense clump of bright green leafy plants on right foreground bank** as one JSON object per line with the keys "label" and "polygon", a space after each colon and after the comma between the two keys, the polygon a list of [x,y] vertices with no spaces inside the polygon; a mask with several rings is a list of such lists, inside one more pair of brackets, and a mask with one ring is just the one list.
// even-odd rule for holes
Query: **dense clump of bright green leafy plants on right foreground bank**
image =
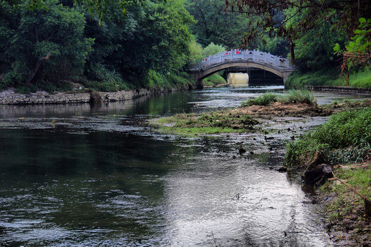
{"label": "dense clump of bright green leafy plants on right foreground bank", "polygon": [[[322,124],[311,133],[289,143],[286,146],[285,163],[288,166],[301,165],[311,158],[317,151],[327,161],[340,161],[341,157],[334,156],[348,149],[348,160],[357,161],[350,157],[352,152],[364,154],[371,145],[371,107],[361,110],[350,110],[337,113],[330,117],[326,124]],[[353,150],[354,149],[354,150]],[[361,158],[363,158],[362,156]]]}

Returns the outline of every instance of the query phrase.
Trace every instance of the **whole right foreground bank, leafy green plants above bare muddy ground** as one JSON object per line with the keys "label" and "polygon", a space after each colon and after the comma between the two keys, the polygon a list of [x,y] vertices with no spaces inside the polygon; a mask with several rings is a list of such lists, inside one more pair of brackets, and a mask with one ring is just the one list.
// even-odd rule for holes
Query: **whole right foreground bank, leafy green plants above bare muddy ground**
{"label": "whole right foreground bank, leafy green plants above bare muddy ground", "polygon": [[[371,198],[371,106],[336,113],[314,131],[286,145],[284,164],[312,169],[332,165],[337,178]],[[366,207],[360,196],[339,181],[326,181],[317,196],[328,217],[328,228],[339,231],[344,246],[371,244]],[[350,234],[349,234],[350,233]]]}

